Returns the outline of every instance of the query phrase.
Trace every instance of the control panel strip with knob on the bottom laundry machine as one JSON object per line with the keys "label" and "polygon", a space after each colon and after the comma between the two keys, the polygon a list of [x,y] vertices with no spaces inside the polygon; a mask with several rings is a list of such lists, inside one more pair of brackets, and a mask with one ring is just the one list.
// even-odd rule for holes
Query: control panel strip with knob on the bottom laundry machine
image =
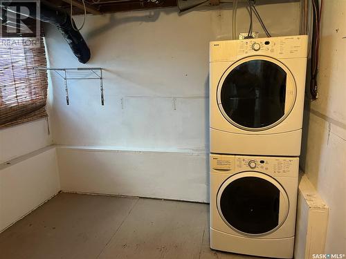
{"label": "control panel strip with knob on the bottom laundry machine", "polygon": [[298,177],[298,157],[260,157],[251,155],[210,155],[210,169],[219,173],[256,171],[275,177]]}

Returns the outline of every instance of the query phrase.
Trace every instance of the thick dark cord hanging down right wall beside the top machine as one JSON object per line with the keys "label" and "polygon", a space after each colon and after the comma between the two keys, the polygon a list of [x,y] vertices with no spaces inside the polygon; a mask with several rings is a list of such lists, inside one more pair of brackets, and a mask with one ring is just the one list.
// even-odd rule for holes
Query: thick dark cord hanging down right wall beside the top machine
{"label": "thick dark cord hanging down right wall beside the top machine", "polygon": [[311,81],[310,81],[310,93],[311,99],[316,100],[318,98],[317,87],[317,75],[318,75],[318,49],[320,46],[320,19],[322,12],[322,3],[319,8],[318,0],[312,1],[313,9],[313,30],[311,40]]}

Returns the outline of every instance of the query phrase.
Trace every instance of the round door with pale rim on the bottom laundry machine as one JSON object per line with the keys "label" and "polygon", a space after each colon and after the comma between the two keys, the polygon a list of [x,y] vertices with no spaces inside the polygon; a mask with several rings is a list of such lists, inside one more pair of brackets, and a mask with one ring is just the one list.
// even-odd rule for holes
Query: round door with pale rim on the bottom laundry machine
{"label": "round door with pale rim on the bottom laundry machine", "polygon": [[244,235],[263,235],[284,223],[289,213],[289,199],[274,178],[264,173],[243,172],[221,185],[217,209],[233,230]]}

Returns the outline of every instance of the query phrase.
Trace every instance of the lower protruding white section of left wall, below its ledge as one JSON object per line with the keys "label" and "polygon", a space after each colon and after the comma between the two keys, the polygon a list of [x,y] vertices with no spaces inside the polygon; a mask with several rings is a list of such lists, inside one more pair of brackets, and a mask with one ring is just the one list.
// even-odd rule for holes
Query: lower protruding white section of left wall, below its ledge
{"label": "lower protruding white section of left wall, below its ledge", "polygon": [[55,147],[0,165],[0,232],[60,191]]}

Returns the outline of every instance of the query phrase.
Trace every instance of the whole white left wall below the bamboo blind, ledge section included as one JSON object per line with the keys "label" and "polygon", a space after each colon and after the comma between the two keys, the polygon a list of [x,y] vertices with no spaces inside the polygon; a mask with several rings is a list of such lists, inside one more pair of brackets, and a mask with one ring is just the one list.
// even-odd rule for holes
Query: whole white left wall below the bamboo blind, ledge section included
{"label": "whole white left wall below the bamboo blind, ledge section included", "polygon": [[46,119],[0,130],[0,232],[60,191]]}

